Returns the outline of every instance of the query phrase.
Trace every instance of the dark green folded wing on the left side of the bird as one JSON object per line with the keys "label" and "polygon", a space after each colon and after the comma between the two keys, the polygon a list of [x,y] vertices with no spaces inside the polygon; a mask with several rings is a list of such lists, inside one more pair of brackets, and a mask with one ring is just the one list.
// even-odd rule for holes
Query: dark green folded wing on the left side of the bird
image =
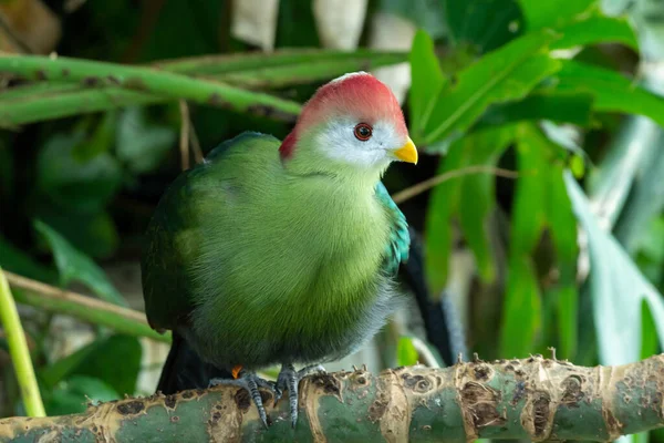
{"label": "dark green folded wing on the left side of the bird", "polygon": [[196,298],[191,264],[209,240],[201,224],[214,223],[215,210],[229,210],[219,186],[219,181],[232,174],[225,159],[251,155],[245,154],[248,145],[260,148],[266,144],[278,146],[278,141],[249,132],[226,141],[203,164],[181,173],[163,195],[145,235],[142,259],[145,312],[153,328],[187,324]]}

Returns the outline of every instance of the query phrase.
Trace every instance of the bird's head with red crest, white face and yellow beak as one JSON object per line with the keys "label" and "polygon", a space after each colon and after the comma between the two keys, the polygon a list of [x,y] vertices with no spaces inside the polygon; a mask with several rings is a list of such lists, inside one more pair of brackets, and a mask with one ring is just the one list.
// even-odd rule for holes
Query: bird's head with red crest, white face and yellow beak
{"label": "bird's head with red crest, white face and yellow beak", "polygon": [[417,163],[398,101],[365,72],[321,86],[279,152],[287,165],[333,174],[380,174],[393,161]]}

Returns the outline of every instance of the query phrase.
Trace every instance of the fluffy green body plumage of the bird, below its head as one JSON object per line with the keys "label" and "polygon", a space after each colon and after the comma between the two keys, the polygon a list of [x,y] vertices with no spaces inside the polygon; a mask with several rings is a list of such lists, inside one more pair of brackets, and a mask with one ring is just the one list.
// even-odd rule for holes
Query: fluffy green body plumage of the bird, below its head
{"label": "fluffy green body plumage of the bird, below its head", "polygon": [[409,238],[381,172],[289,169],[279,145],[245,133],[217,147],[148,227],[151,324],[219,368],[339,359],[398,305],[392,277]]}

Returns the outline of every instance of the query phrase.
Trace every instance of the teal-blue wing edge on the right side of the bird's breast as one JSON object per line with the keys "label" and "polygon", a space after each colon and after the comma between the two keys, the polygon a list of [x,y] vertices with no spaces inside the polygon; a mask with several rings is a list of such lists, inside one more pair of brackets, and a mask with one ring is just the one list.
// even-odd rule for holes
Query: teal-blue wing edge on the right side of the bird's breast
{"label": "teal-blue wing edge on the right side of the bird's breast", "polygon": [[385,208],[391,222],[390,243],[386,247],[383,269],[388,275],[396,275],[400,265],[406,262],[408,259],[408,250],[411,248],[408,223],[398,206],[390,197],[382,182],[378,182],[376,185],[376,198]]}

